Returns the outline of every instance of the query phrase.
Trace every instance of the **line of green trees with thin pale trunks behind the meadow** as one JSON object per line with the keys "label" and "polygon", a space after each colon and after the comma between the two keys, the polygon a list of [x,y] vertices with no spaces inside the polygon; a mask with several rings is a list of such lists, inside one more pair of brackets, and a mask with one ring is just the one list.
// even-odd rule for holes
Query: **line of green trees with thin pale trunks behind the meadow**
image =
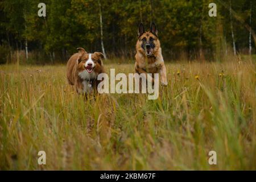
{"label": "line of green trees with thin pale trunks behind the meadow", "polygon": [[77,47],[133,59],[140,22],[156,23],[167,61],[255,53],[253,0],[44,0],[46,17],[38,16],[40,2],[0,2],[0,63],[65,63]]}

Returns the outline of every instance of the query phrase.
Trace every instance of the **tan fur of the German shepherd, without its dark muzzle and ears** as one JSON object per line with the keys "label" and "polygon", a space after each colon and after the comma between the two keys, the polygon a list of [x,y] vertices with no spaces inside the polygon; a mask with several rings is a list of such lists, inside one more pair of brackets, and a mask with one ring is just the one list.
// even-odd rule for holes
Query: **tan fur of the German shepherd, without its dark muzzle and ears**
{"label": "tan fur of the German shepherd, without its dark muzzle and ears", "polygon": [[[146,52],[141,47],[142,39],[149,40],[150,37],[154,38],[155,47],[151,57],[147,57]],[[167,85],[167,73],[166,66],[162,56],[162,49],[160,47],[160,41],[157,36],[151,32],[144,32],[139,36],[136,44],[136,55],[135,55],[135,71],[137,73],[160,73],[160,82],[162,85]],[[154,81],[154,78],[152,79]]]}

